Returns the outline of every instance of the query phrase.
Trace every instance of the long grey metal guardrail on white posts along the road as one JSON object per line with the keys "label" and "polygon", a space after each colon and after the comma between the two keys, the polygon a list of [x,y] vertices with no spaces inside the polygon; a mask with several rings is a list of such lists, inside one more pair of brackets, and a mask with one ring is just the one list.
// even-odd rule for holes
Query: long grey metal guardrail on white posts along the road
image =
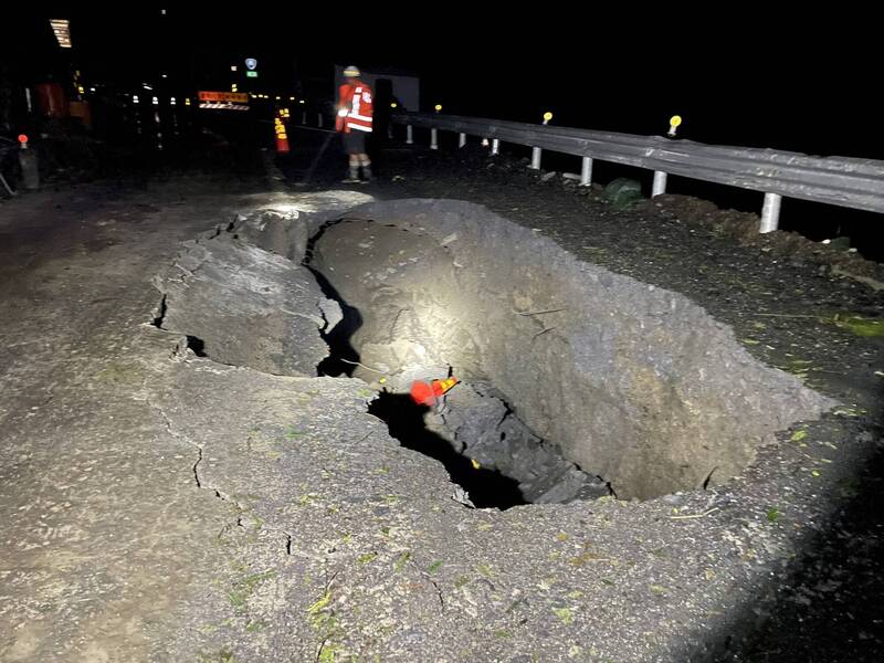
{"label": "long grey metal guardrail on white posts along the road", "polygon": [[592,179],[592,160],[611,161],[654,171],[652,196],[664,193],[666,175],[678,175],[743,189],[762,191],[761,232],[777,229],[780,202],[800,198],[841,207],[884,212],[884,161],[848,157],[812,157],[799,152],[704,145],[672,140],[661,136],[633,136],[573,129],[549,125],[460,117],[396,113],[393,123],[406,125],[407,143],[413,143],[412,127],[431,130],[431,145],[438,147],[438,130],[493,140],[492,154],[499,141],[534,148],[532,167],[540,167],[540,151],[548,149],[582,157],[580,183]]}

